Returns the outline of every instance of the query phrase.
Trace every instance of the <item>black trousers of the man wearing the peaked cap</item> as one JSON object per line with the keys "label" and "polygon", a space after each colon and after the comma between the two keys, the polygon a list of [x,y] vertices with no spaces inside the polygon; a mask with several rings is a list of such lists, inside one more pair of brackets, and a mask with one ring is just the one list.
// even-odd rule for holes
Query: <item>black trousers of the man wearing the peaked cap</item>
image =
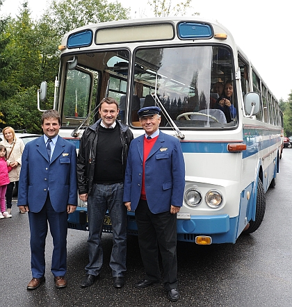
{"label": "black trousers of the man wearing the peaked cap", "polygon": [[166,291],[177,288],[177,215],[171,214],[170,210],[154,214],[149,210],[147,201],[140,199],[135,216],[145,278],[160,281],[160,250],[164,288]]}

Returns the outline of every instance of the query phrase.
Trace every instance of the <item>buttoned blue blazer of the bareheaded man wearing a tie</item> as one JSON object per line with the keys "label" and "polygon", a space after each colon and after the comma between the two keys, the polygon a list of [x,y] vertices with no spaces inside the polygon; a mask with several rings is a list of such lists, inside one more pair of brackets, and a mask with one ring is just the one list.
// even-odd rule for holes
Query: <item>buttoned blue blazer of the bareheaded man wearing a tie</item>
{"label": "buttoned blue blazer of the bareheaded man wearing a tie", "polygon": [[24,147],[17,206],[40,212],[48,190],[56,212],[67,210],[67,204],[77,206],[76,148],[59,135],[51,163],[43,136]]}

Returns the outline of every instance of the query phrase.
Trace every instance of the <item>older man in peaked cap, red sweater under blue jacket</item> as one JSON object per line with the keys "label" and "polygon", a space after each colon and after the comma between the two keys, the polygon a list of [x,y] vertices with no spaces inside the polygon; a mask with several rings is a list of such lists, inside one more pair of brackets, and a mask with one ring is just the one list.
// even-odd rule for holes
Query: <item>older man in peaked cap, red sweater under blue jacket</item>
{"label": "older man in peaked cap, red sweater under blue jacket", "polygon": [[145,278],[135,284],[145,288],[161,279],[170,301],[179,299],[177,289],[177,212],[184,197],[184,156],[177,138],[159,131],[160,108],[138,111],[145,134],[131,142],[124,181],[124,203],[134,210]]}

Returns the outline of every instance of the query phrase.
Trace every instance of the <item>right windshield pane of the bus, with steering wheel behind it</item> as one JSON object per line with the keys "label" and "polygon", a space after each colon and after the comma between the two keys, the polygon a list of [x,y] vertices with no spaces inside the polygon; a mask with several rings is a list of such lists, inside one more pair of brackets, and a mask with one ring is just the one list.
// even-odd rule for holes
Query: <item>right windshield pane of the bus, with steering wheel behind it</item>
{"label": "right windshield pane of the bus, with steering wheel behind it", "polygon": [[[135,94],[140,97],[141,106],[161,103],[177,126],[236,125],[232,52],[226,47],[138,49],[134,75]],[[220,98],[226,101],[226,106],[220,106]],[[166,117],[162,118],[161,126],[170,126]]]}

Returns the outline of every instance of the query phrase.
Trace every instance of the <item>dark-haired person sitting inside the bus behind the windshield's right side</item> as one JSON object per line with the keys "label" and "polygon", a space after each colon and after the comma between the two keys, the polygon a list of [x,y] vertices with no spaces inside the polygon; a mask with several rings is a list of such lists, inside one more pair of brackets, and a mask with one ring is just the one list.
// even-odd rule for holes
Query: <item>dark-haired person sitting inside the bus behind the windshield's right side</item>
{"label": "dark-haired person sitting inside the bus behind the windshield's right side", "polygon": [[229,123],[236,117],[236,108],[232,104],[233,83],[232,81],[226,81],[224,86],[224,92],[221,97],[216,101],[215,108],[222,110],[225,114],[226,122]]}

